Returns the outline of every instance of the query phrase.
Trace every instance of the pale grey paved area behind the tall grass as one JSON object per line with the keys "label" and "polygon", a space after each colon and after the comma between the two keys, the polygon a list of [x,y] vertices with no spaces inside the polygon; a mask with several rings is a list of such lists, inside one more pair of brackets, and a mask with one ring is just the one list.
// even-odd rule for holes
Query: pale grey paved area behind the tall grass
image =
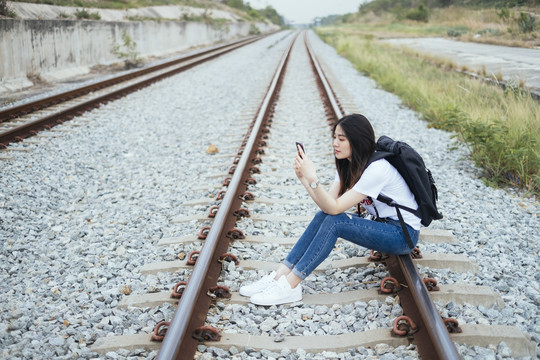
{"label": "pale grey paved area behind the tall grass", "polygon": [[502,74],[503,80],[523,79],[525,85],[540,93],[540,49],[487,45],[448,40],[444,38],[415,38],[386,40],[405,45],[438,57],[450,58],[459,66],[472,70],[485,66],[488,75]]}

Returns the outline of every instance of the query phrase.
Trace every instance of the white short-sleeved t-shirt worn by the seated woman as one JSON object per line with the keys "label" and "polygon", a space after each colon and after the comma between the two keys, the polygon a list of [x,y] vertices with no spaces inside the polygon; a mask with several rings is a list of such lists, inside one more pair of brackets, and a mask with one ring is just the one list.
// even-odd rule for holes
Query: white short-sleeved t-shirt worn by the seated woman
{"label": "white short-sleeved t-shirt worn by the seated woman", "polygon": [[[335,181],[339,183],[337,171]],[[390,165],[386,159],[377,160],[369,164],[360,177],[360,180],[353,186],[353,190],[370,196],[381,218],[388,217],[399,221],[394,207],[377,200],[379,194],[394,199],[400,205],[411,209],[418,209],[418,204],[407,183],[396,168]],[[364,199],[361,204],[371,215],[376,216],[375,208],[368,198]],[[400,211],[403,220],[408,225],[412,226],[415,230],[420,230],[420,218],[406,210]]]}

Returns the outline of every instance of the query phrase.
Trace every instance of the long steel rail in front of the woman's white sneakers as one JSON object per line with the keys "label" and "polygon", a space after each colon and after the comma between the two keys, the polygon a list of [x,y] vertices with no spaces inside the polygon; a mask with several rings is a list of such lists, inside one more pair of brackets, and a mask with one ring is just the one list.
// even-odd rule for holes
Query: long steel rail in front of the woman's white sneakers
{"label": "long steel rail in front of the woman's white sneakers", "polygon": [[[245,180],[249,175],[249,163],[255,157],[255,144],[260,138],[263,130],[263,123],[267,117],[270,105],[274,101],[280,83],[283,80],[285,67],[289,58],[292,46],[296,40],[295,36],[288,45],[270,84],[268,92],[258,110],[254,120],[251,133],[245,145],[245,150],[237,164],[236,171],[229,183],[219,211],[216,214],[214,223],[210,228],[204,246],[197,258],[192,275],[187,286],[184,288],[182,298],[174,313],[171,324],[167,330],[163,344],[157,355],[157,359],[193,359],[198,341],[193,339],[194,330],[202,326],[206,320],[206,314],[210,304],[210,297],[206,294],[209,285],[217,283],[221,265],[217,262],[218,249],[228,247],[226,234],[236,221],[233,211],[235,205],[241,204],[238,194],[241,189],[246,188]],[[217,272],[211,273],[212,265],[217,266]],[[206,310],[197,313],[197,308]]]}

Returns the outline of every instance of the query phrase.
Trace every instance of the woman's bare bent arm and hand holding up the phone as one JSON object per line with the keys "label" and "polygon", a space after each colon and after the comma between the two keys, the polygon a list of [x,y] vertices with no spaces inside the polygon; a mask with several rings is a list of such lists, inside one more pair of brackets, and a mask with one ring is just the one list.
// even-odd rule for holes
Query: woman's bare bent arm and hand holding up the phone
{"label": "woman's bare bent arm and hand holding up the phone", "polygon": [[323,212],[329,215],[340,214],[366,197],[352,189],[338,197],[339,183],[336,182],[332,184],[329,191],[323,189],[321,185],[318,185],[315,189],[311,188],[310,184],[317,182],[317,173],[313,161],[302,149],[298,150],[293,166],[298,179],[306,188],[309,196]]}

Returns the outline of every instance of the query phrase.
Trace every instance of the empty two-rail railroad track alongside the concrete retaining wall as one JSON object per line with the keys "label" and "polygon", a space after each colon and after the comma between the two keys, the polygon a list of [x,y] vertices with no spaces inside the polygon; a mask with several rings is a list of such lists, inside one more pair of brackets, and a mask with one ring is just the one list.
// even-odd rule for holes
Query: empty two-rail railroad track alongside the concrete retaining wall
{"label": "empty two-rail railroad track alongside the concrete retaining wall", "polygon": [[157,81],[248,45],[250,36],[0,111],[0,149]]}

